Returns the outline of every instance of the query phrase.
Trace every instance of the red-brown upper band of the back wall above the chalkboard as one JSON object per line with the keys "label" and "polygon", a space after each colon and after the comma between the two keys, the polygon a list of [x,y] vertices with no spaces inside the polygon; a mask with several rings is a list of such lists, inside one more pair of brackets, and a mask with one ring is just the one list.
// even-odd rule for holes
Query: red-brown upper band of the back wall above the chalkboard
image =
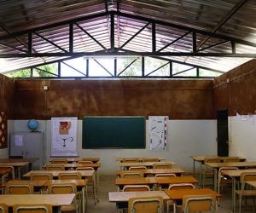
{"label": "red-brown upper band of the back wall above the chalkboard", "polygon": [[16,80],[15,119],[87,115],[212,119],[212,85],[212,80]]}

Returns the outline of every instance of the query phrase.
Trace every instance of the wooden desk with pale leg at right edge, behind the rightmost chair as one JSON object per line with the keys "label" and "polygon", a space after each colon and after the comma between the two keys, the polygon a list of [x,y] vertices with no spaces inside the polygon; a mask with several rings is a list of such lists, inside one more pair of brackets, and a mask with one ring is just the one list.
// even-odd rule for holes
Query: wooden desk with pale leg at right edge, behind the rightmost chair
{"label": "wooden desk with pale leg at right edge, behind the rightmost chair", "polygon": [[240,176],[241,173],[243,172],[255,172],[256,170],[223,170],[221,172],[222,175],[224,176],[229,176],[232,178],[232,209],[233,212],[235,213],[236,211],[236,180],[240,181]]}

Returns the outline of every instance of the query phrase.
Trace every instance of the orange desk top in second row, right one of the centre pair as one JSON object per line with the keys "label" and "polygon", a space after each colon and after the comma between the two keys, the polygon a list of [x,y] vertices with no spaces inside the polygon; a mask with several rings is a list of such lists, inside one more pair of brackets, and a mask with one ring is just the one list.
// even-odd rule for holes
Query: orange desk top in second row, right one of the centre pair
{"label": "orange desk top in second row, right one of the centre pair", "polygon": [[158,184],[176,184],[176,183],[197,183],[198,181],[193,176],[165,176],[155,177]]}

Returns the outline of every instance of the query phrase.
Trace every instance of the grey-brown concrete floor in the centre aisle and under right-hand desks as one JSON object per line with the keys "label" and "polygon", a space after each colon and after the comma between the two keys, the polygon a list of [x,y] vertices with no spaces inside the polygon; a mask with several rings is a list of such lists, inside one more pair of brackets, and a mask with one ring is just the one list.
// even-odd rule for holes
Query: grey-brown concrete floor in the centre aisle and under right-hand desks
{"label": "grey-brown concrete floor in the centre aisle and under right-hand desks", "polygon": [[[99,203],[94,204],[92,196],[89,198],[88,213],[114,213],[118,212],[115,204],[108,202],[108,192],[117,191],[114,185],[115,176],[101,176],[99,187]],[[237,200],[238,202],[238,200]],[[232,208],[231,187],[224,187],[222,198],[220,199],[219,213],[230,213]],[[237,205],[238,210],[238,205]],[[247,200],[247,204],[242,206],[243,213],[253,212],[253,204],[251,200]]]}

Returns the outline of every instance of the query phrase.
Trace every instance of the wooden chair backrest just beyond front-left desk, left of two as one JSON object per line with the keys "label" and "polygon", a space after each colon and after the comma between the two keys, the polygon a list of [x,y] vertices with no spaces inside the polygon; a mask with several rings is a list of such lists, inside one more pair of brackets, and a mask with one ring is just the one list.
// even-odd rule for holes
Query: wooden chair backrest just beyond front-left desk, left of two
{"label": "wooden chair backrest just beyond front-left desk, left of two", "polygon": [[32,183],[7,183],[5,186],[6,194],[31,194],[34,193]]}

